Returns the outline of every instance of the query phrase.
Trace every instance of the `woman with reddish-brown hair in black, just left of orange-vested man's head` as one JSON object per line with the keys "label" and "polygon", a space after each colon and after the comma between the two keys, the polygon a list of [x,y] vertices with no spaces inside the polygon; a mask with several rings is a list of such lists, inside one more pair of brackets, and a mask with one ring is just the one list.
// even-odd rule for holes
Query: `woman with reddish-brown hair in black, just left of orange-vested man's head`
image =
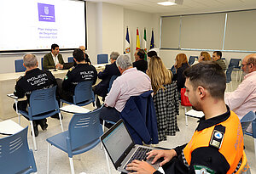
{"label": "woman with reddish-brown hair in black, just left of orange-vested man's head", "polygon": [[183,71],[189,68],[189,62],[186,54],[184,53],[178,53],[175,60],[176,62],[174,67],[176,68],[177,71],[177,77],[175,77],[174,79],[177,78],[177,92],[180,93],[180,90],[184,87],[186,80],[185,77],[183,76]]}

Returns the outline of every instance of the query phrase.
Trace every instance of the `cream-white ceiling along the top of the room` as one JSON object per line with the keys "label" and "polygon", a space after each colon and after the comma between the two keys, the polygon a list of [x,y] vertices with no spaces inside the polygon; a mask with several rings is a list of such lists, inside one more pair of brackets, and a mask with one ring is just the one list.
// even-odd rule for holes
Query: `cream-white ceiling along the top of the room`
{"label": "cream-white ceiling along the top of the room", "polygon": [[138,11],[161,15],[199,14],[256,8],[256,0],[183,0],[183,5],[161,6],[166,0],[87,0],[90,2],[113,3]]}

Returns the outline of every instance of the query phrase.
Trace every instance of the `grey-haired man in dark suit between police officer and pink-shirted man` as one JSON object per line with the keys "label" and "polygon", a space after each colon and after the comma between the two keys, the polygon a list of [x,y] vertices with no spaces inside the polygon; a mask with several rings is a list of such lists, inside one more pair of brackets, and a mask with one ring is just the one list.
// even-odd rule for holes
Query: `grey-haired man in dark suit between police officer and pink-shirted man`
{"label": "grey-haired man in dark suit between police officer and pink-shirted man", "polygon": [[[121,75],[120,71],[116,65],[116,62],[115,62],[118,57],[119,57],[119,53],[117,53],[117,52],[112,52],[110,54],[111,65],[106,65],[105,70],[101,70],[99,72],[98,77],[100,79],[102,79],[102,81],[98,85],[96,85],[96,87],[93,88],[94,93],[96,95],[101,96],[103,98],[103,100],[107,96],[109,81],[110,81],[111,77]],[[98,97],[96,97],[96,105],[97,105],[97,107],[101,106]]]}

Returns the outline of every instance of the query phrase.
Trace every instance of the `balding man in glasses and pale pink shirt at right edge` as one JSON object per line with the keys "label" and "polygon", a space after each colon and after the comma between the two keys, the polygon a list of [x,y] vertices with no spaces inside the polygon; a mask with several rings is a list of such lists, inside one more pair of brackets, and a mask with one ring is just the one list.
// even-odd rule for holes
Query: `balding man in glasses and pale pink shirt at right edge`
{"label": "balding man in glasses and pale pink shirt at right edge", "polygon": [[[239,119],[249,111],[256,111],[256,53],[247,55],[241,62],[244,80],[234,92],[225,93],[225,103],[230,106]],[[247,129],[252,132],[252,126]]]}

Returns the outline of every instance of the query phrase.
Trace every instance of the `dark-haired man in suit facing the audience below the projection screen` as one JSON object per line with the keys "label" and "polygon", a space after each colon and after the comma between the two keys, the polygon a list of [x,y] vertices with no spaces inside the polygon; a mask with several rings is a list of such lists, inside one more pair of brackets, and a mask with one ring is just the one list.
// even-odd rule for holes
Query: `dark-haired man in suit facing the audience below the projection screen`
{"label": "dark-haired man in suit facing the audience below the projection screen", "polygon": [[44,55],[43,68],[44,70],[49,69],[63,69],[63,58],[57,44],[51,45],[51,52]]}

